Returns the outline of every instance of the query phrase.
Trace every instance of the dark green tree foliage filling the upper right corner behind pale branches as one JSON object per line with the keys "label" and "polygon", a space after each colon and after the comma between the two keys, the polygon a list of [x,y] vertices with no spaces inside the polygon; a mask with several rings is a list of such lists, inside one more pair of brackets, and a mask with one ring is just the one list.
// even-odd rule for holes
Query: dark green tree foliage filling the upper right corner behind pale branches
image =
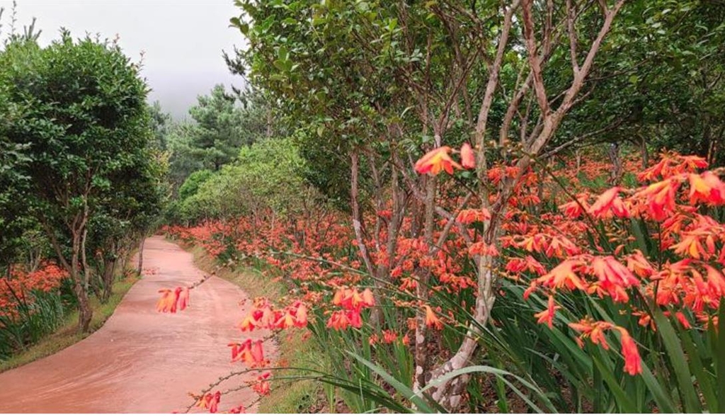
{"label": "dark green tree foliage filling the upper right corner behind pale branches", "polygon": [[[587,96],[550,149],[626,143],[725,160],[725,8],[634,2],[594,68]],[[561,76],[560,67],[550,77]],[[601,146],[601,145],[600,145]],[[602,146],[603,147],[603,146]]]}

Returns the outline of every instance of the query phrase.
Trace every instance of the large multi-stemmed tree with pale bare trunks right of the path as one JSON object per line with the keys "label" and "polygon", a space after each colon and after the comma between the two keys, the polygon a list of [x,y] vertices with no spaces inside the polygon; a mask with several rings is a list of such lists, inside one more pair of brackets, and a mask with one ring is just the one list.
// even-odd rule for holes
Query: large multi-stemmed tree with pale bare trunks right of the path
{"label": "large multi-stemmed tree with pale bare trunks right of the path", "polygon": [[[456,178],[466,183],[457,197],[492,213],[481,239],[498,243],[517,178],[492,189],[489,168],[501,162],[513,163],[518,173],[536,168],[566,115],[589,92],[595,61],[616,45],[610,32],[626,28],[616,20],[624,0],[238,3],[243,14],[231,22],[248,40],[240,58],[249,79],[306,131],[301,137],[307,146],[325,149],[313,157],[344,161],[337,168],[312,168],[349,169],[352,225],[358,254],[376,278],[373,286],[390,280],[391,265],[374,265],[365,243],[378,239],[382,227],[386,241],[373,241],[392,259],[401,213],[411,219],[410,234],[430,248],[440,247],[450,230],[436,237],[436,225],[456,221],[449,210],[460,207],[442,207],[450,183],[413,172],[413,161],[435,147],[469,141],[476,149],[476,175]],[[366,166],[369,191],[361,180]],[[373,198],[364,199],[366,192]],[[386,203],[394,216],[373,217]],[[363,210],[374,226],[363,223]],[[497,262],[492,255],[474,257],[475,308],[465,336],[447,344],[447,358],[433,363],[425,314],[415,312],[413,389],[475,357],[475,335],[489,321],[501,279]],[[420,268],[416,275],[417,300],[430,300],[428,289],[436,285],[431,271]],[[456,409],[469,378],[447,380],[428,393]]]}

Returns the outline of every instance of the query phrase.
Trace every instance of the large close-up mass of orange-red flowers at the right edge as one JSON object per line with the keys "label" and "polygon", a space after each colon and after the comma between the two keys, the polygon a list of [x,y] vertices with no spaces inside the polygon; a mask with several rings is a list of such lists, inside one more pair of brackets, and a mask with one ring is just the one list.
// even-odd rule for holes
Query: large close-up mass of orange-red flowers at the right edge
{"label": "large close-up mass of orange-red flowers at the right edge", "polygon": [[[580,241],[581,245],[568,241],[561,245],[563,250],[551,249],[549,238],[555,234],[537,233],[538,226],[521,228],[521,237],[502,239],[504,247],[525,249],[547,258],[555,255],[561,259],[548,273],[537,268],[540,263],[533,257],[513,258],[506,265],[514,278],[522,272],[539,275],[531,280],[524,293],[525,297],[539,290],[548,294],[547,309],[534,315],[539,323],[553,326],[557,311],[563,308],[557,305],[555,296],[565,291],[596,294],[619,303],[629,302],[631,294],[639,293],[661,306],[667,316],[670,315],[668,310],[674,310],[673,318],[685,329],[692,328],[688,311],[704,326],[715,323],[716,312],[725,297],[725,225],[698,212],[700,207],[697,205],[725,205],[725,183],[718,177],[719,170],[697,172],[705,168],[707,163],[703,158],[663,154],[660,162],[638,176],[640,181],[653,183],[636,190],[616,186],[597,196],[594,202],[589,201],[589,194],[580,193],[576,201],[559,206],[565,218],[552,228],[569,228],[568,218],[569,224],[578,225],[577,228],[584,226],[581,230],[587,231],[589,236],[598,236],[601,231],[576,220],[585,212],[600,220],[632,218],[658,223],[657,228],[650,229],[654,230],[651,235],[659,242],[660,251],[669,251],[666,252],[669,260],[658,268],[639,249],[631,248],[625,253],[630,246],[624,235],[626,228],[621,225],[626,223],[602,226],[608,243],[621,242],[611,255],[600,255],[605,249],[599,244],[592,247],[586,239]],[[640,317],[639,324],[655,329],[648,313],[634,307],[633,310],[632,314]],[[617,331],[625,371],[631,375],[642,371],[637,343],[626,329],[591,319],[570,326],[581,333],[580,344],[582,339],[590,339],[605,349],[609,349],[605,332]]]}

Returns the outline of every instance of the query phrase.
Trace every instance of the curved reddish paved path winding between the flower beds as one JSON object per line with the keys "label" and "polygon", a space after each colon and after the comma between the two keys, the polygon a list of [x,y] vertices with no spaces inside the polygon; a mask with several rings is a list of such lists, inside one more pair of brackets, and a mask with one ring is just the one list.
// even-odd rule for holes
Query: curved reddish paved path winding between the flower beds
{"label": "curved reddish paved path winding between the flower beds", "polygon": [[[193,402],[187,392],[198,394],[221,376],[244,369],[230,363],[227,347],[241,339],[235,326],[250,305],[246,301],[239,307],[247,300],[239,287],[212,276],[191,291],[186,310],[162,314],[155,310],[158,289],[191,284],[203,273],[191,254],[162,236],[146,239],[144,271],[94,334],[0,373],[0,413],[183,412]],[[251,379],[237,376],[220,390]],[[252,389],[245,387],[223,395],[220,410],[254,399]]]}

